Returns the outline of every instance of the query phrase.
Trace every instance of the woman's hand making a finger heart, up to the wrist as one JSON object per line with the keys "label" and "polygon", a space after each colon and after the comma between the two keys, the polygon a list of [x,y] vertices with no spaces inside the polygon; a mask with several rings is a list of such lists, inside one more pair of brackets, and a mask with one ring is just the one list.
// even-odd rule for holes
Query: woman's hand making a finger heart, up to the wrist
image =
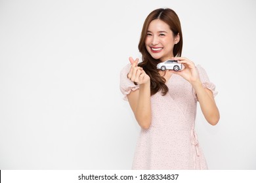
{"label": "woman's hand making a finger heart, up to the wrist", "polygon": [[138,66],[139,58],[134,60],[130,57],[129,61],[131,62],[131,69],[127,74],[129,80],[136,82],[137,84],[146,84],[150,82],[150,76],[146,74],[142,67]]}

